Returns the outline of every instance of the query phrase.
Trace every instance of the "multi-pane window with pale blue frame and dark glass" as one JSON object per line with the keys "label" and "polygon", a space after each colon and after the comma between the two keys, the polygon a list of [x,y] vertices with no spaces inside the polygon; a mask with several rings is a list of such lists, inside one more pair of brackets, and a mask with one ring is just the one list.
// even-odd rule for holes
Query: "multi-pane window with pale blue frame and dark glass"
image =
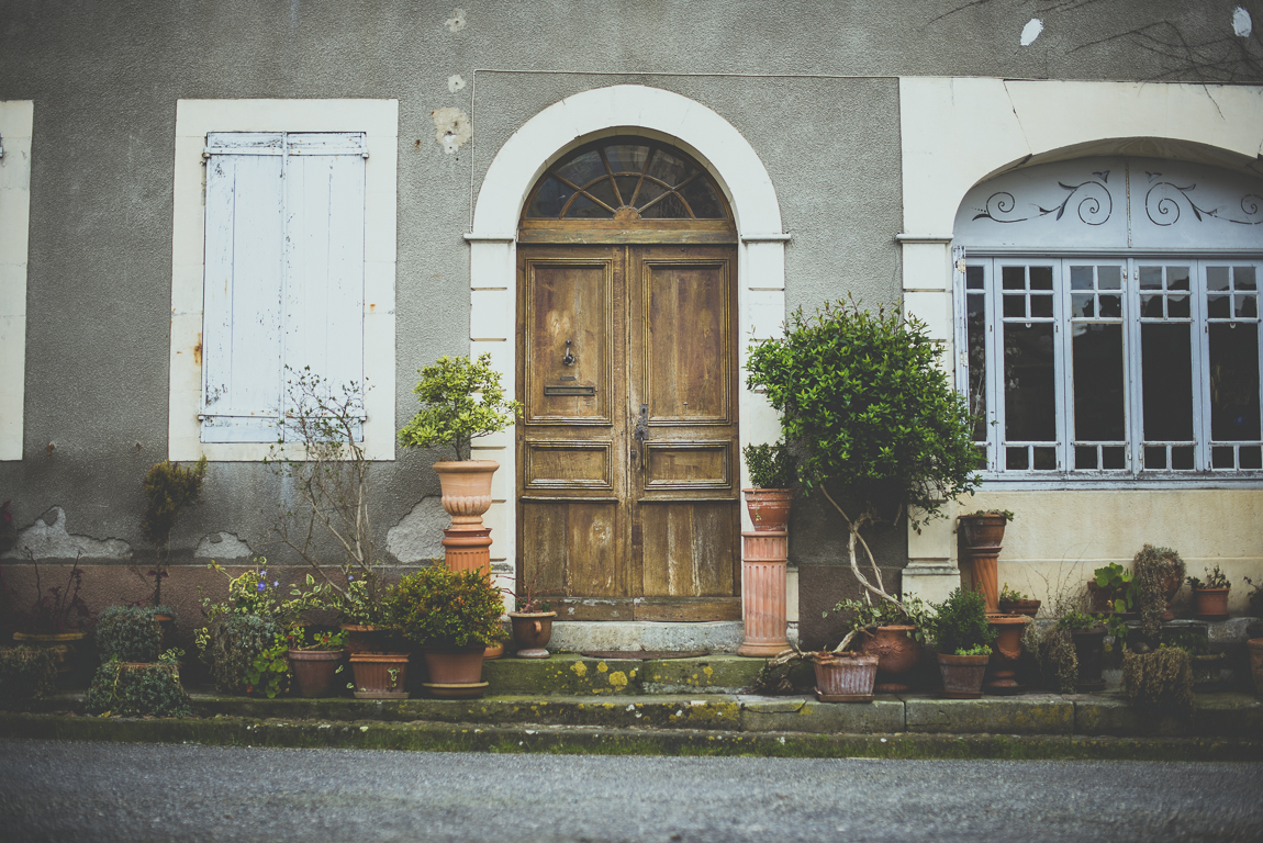
{"label": "multi-pane window with pale blue frame and dark glass", "polygon": [[969,255],[957,274],[989,472],[1263,476],[1263,261]]}

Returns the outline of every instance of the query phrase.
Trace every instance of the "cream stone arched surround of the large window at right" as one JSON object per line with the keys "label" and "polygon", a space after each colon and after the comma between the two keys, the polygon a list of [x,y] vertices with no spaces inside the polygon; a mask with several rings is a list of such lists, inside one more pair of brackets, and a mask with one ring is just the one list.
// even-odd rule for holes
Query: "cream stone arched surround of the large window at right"
{"label": "cream stone arched surround of the large window at right", "polygon": [[[1162,141],[1191,143],[1210,148],[1207,154],[1257,162],[1263,87],[901,77],[899,126],[903,305],[930,324],[951,361],[951,232],[970,188],[1058,150],[1077,156],[1072,148],[1090,145],[1082,154],[1106,154],[1111,141],[1122,148],[1152,140],[1159,149]],[[949,376],[954,368],[947,366]],[[909,530],[906,591],[941,599],[959,582],[955,504],[947,515],[921,534]]]}

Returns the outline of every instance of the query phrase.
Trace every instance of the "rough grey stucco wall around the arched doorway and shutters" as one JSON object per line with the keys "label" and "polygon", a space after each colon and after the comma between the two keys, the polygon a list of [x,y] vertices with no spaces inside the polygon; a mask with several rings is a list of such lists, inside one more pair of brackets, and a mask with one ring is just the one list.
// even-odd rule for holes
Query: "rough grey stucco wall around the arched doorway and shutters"
{"label": "rough grey stucco wall around the arched doorway and shutters", "polygon": [[[167,456],[172,168],[178,98],[398,98],[398,409],[414,370],[467,350],[470,178],[557,100],[620,82],[692,97],[763,159],[781,201],[787,304],[899,295],[899,74],[1263,80],[1248,0],[1063,4],[0,3],[0,100],[34,101],[24,459],[0,463],[20,526],[52,506],[67,529],[138,549],[140,478]],[[1042,18],[1029,47],[1019,33]],[[453,32],[455,30],[455,32]],[[446,154],[429,112],[471,111]],[[452,93],[448,77],[466,85]],[[739,74],[739,76],[727,76]],[[778,76],[789,74],[789,76]],[[842,76],[847,78],[829,78]],[[985,130],[985,127],[980,127]],[[48,453],[49,443],[53,444]],[[437,493],[432,454],[379,464],[379,540]],[[207,504],[176,535],[187,559],[230,531],[256,544],[280,490],[256,464],[211,466]],[[806,507],[794,555],[836,559]],[[890,559],[906,539],[879,541]]]}

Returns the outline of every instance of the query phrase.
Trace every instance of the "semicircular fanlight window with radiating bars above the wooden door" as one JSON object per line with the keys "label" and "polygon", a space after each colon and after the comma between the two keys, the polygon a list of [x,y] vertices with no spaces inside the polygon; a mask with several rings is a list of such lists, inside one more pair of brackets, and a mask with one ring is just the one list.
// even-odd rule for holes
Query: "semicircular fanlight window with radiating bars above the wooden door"
{"label": "semicircular fanlight window with radiating bars above the wooden door", "polygon": [[647,138],[605,138],[548,168],[524,221],[724,221],[731,215],[710,174],[678,149]]}

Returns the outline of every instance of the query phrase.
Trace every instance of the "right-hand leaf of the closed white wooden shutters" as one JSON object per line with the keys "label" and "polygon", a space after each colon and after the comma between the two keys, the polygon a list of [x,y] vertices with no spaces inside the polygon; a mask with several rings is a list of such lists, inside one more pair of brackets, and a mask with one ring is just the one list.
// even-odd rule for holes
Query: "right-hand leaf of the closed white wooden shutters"
{"label": "right-hand leaf of the closed white wooden shutters", "polygon": [[285,362],[364,389],[362,134],[292,134],[285,177]]}

